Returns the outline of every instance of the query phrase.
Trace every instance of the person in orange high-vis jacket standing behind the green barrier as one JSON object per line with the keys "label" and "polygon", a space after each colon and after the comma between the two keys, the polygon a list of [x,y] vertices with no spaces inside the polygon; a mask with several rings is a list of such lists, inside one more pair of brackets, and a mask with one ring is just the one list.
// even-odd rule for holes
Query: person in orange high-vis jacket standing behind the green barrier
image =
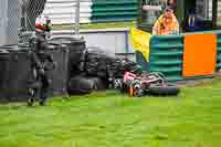
{"label": "person in orange high-vis jacket standing behind the green barrier", "polygon": [[164,14],[155,22],[152,35],[168,35],[176,33],[179,33],[179,22],[173,14],[172,8],[167,7]]}

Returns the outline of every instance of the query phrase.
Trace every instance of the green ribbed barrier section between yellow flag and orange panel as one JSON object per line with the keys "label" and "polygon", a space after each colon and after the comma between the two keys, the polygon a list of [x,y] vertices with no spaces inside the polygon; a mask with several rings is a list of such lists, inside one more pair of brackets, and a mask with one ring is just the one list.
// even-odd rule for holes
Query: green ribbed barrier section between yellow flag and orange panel
{"label": "green ribbed barrier section between yellow flag and orange panel", "polygon": [[149,70],[162,72],[169,81],[182,80],[182,35],[156,35],[150,41]]}

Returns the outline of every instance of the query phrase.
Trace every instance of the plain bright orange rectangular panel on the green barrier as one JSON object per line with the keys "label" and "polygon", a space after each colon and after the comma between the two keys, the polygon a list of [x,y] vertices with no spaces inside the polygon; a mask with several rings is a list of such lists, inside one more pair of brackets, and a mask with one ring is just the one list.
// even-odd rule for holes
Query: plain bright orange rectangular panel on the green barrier
{"label": "plain bright orange rectangular panel on the green barrier", "polygon": [[211,75],[217,65],[217,35],[185,35],[183,70],[185,77]]}

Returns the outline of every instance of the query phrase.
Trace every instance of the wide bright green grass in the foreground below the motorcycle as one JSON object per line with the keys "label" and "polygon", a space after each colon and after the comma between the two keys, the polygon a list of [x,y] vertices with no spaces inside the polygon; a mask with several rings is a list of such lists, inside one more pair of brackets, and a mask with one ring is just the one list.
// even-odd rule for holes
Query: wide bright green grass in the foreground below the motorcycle
{"label": "wide bright green grass in the foreground below the motorcycle", "polygon": [[177,97],[108,91],[45,107],[0,105],[0,147],[220,147],[221,81]]}

